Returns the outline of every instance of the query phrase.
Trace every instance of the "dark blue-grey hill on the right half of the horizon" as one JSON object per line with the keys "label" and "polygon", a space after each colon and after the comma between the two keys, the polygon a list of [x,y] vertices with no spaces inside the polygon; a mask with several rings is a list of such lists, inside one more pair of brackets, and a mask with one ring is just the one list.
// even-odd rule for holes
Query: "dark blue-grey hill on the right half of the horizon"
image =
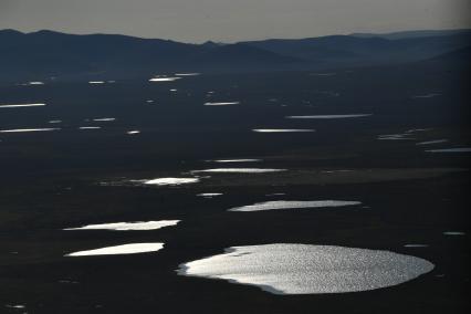
{"label": "dark blue-grey hill on the right half of the horizon", "polygon": [[352,66],[426,60],[463,48],[470,42],[470,39],[471,32],[460,32],[450,35],[427,35],[398,40],[379,36],[333,35],[302,40],[253,41],[244,44],[324,66]]}

